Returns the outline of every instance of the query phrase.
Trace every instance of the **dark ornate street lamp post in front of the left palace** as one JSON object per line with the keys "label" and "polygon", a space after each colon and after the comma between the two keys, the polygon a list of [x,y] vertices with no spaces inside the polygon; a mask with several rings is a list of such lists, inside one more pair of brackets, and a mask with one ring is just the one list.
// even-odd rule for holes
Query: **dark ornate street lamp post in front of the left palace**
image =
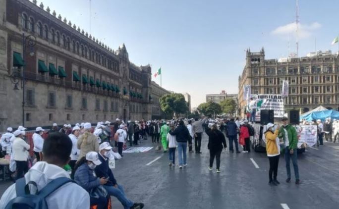
{"label": "dark ornate street lamp post in front of the left palace", "polygon": [[25,36],[25,34],[22,34],[22,59],[23,59],[23,66],[22,66],[22,72],[20,72],[20,69],[15,69],[13,73],[10,75],[10,80],[14,84],[14,90],[18,89],[18,83],[19,79],[21,78],[21,89],[22,89],[22,126],[25,126],[25,69],[26,69],[26,50],[29,50],[29,55],[33,56],[35,52],[35,44],[37,40],[35,36],[28,35]]}

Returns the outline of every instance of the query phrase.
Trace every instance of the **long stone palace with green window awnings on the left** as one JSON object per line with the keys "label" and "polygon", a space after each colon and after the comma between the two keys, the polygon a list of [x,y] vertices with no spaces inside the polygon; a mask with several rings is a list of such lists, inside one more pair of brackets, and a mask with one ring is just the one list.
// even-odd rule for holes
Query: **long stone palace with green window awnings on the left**
{"label": "long stone palace with green window awnings on the left", "polygon": [[[150,65],[136,66],[125,45],[113,50],[36,4],[0,1],[0,131],[22,117],[27,127],[151,119]],[[25,91],[20,83],[13,90],[22,75]]]}

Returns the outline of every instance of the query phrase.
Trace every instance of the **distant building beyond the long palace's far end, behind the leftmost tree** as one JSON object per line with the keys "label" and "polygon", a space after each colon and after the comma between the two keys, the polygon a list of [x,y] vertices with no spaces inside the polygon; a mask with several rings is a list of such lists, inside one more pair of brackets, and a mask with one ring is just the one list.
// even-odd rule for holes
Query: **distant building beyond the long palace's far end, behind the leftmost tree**
{"label": "distant building beyond the long palace's far end, behind the leftmost tree", "polygon": [[152,119],[164,119],[166,118],[166,114],[160,108],[159,99],[167,94],[171,94],[172,92],[160,87],[156,82],[151,82],[152,89]]}

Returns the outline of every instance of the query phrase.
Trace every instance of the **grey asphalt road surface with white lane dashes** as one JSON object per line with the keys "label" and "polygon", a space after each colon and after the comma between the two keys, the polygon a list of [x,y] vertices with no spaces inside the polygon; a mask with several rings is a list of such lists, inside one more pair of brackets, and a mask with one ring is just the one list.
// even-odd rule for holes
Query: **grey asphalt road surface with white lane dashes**
{"label": "grey asphalt road surface with white lane dashes", "polygon": [[[141,147],[153,146],[145,140]],[[227,142],[228,146],[228,142]],[[339,144],[308,148],[298,156],[301,184],[285,183],[286,170],[280,158],[279,186],[268,185],[269,161],[264,153],[222,153],[221,173],[208,170],[207,136],[202,154],[188,153],[187,167],[169,167],[168,153],[123,154],[113,173],[126,196],[143,202],[145,209],[338,209]],[[155,160],[156,158],[159,159]],[[176,153],[176,161],[177,153]],[[258,165],[257,168],[252,160]],[[151,164],[147,165],[151,161]],[[176,164],[178,164],[176,162]],[[0,194],[10,185],[0,183]],[[123,209],[113,198],[113,208]]]}

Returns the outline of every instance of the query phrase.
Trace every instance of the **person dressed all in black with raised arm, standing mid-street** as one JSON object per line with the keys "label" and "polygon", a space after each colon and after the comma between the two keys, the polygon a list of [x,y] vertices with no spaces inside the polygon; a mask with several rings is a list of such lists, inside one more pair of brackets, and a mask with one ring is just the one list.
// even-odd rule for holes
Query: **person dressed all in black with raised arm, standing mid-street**
{"label": "person dressed all in black with raised arm, standing mid-street", "polygon": [[221,152],[224,149],[226,150],[226,139],[223,132],[218,130],[216,124],[210,124],[211,128],[207,128],[205,130],[206,134],[208,135],[208,149],[210,150],[210,166],[208,167],[209,170],[212,170],[214,157],[217,159],[217,173],[220,173],[220,156]]}

